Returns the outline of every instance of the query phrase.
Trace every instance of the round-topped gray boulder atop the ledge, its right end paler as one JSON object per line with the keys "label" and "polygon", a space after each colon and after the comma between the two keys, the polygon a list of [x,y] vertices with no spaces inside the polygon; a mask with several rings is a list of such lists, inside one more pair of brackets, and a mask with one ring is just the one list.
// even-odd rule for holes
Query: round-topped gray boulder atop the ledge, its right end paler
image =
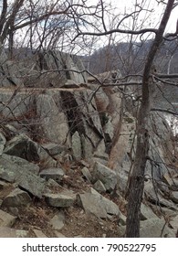
{"label": "round-topped gray boulder atop the ledge, its right end paler", "polygon": [[[79,57],[58,50],[39,51],[21,61],[20,74],[27,87],[61,87],[67,80],[86,82]],[[30,70],[30,73],[29,73]],[[54,71],[53,71],[54,70]]]}

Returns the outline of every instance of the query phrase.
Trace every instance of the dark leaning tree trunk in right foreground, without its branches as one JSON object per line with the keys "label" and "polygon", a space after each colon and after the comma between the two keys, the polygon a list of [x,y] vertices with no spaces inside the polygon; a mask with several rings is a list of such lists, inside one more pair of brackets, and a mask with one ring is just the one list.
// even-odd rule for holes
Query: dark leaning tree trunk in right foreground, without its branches
{"label": "dark leaning tree trunk in right foreground, without its branches", "polygon": [[158,48],[161,46],[163,32],[169,20],[170,14],[173,10],[174,0],[169,0],[160,27],[157,29],[156,36],[149,51],[142,79],[142,101],[138,117],[137,126],[137,145],[135,160],[130,177],[129,196],[128,196],[128,210],[126,221],[126,237],[138,238],[140,237],[140,213],[141,213],[141,199],[144,188],[144,173],[149,150],[149,128],[148,119],[151,110],[152,100],[152,62],[156,55]]}

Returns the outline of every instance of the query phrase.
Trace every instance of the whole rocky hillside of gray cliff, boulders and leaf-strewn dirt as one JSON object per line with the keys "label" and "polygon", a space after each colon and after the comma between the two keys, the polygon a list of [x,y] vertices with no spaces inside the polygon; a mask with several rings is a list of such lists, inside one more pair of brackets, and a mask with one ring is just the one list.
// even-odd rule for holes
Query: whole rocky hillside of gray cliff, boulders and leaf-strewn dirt
{"label": "whole rocky hillside of gray cliff, boulders and leaf-strewn dirt", "polygon": [[[0,236],[123,237],[136,94],[88,80],[64,53],[26,58],[1,65]],[[177,136],[162,112],[149,125],[141,237],[175,237]]]}

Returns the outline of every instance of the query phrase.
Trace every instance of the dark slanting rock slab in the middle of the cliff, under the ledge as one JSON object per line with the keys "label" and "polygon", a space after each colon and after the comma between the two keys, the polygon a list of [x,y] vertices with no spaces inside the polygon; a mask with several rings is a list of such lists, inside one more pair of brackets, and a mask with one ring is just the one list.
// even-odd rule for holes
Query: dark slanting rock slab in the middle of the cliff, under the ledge
{"label": "dark slanting rock slab in the middle of the cliff, under the ledge", "polygon": [[[92,91],[87,89],[64,91],[61,94],[62,99],[65,100],[63,101],[66,111],[73,116],[73,133],[77,131],[80,135],[82,156],[85,159],[90,159],[94,149],[98,147],[100,139],[104,138],[99,112],[94,98],[91,98],[91,94]],[[89,101],[90,98],[91,100]],[[86,104],[88,101],[90,103]],[[71,106],[73,106],[72,112]]]}

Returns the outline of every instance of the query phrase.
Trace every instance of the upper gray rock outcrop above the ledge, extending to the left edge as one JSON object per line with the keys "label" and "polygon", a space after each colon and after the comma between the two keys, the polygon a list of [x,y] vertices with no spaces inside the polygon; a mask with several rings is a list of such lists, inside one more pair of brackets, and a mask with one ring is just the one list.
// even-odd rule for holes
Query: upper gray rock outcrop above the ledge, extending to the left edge
{"label": "upper gray rock outcrop above the ledge, extending to the left edge", "polygon": [[[67,80],[85,83],[84,66],[78,57],[67,53],[47,50],[29,54],[25,59],[8,60],[1,53],[0,87],[61,87]],[[64,71],[64,69],[70,69]],[[77,71],[77,72],[75,72]]]}

